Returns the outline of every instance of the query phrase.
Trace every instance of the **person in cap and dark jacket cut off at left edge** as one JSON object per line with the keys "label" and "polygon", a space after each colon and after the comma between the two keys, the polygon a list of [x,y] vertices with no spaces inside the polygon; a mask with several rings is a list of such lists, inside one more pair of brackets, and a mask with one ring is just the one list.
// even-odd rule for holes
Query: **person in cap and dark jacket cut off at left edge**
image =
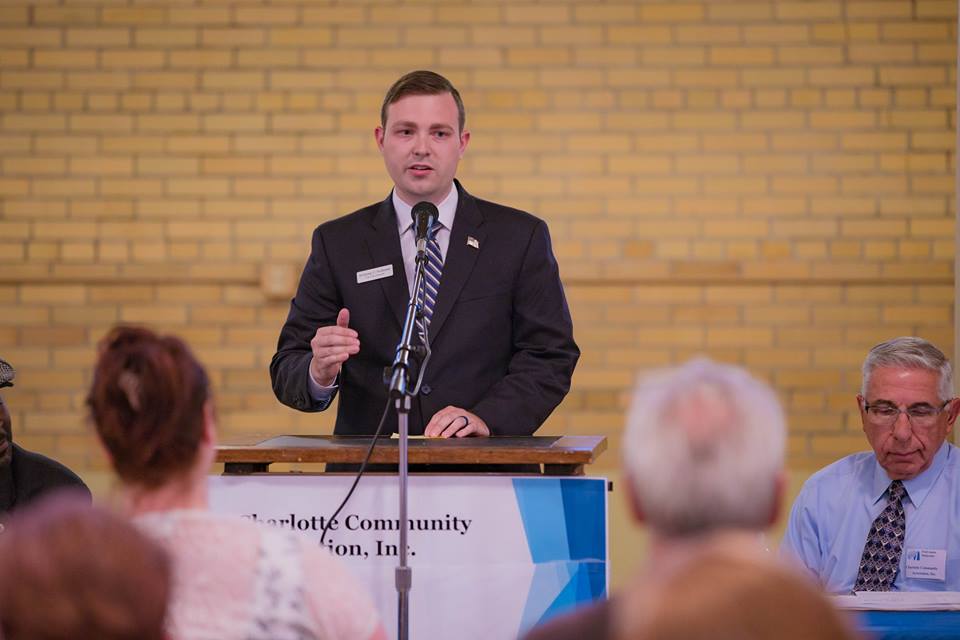
{"label": "person in cap and dark jacket cut off at left edge", "polygon": [[[0,360],[0,389],[12,387],[15,376],[13,367]],[[90,501],[90,490],[77,474],[56,460],[13,443],[13,420],[0,396],[0,514],[21,508],[45,493],[68,488]]]}

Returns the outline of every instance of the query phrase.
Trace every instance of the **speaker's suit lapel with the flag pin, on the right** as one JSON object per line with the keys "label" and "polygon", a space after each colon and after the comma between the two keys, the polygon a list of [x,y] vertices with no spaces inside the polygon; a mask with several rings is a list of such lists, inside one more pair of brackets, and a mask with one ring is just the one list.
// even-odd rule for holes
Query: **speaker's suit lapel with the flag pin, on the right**
{"label": "speaker's suit lapel with the flag pin, on the right", "polygon": [[450,245],[443,261],[443,274],[440,276],[440,291],[437,293],[437,304],[433,309],[433,318],[430,320],[430,341],[436,339],[443,328],[447,316],[460,296],[460,290],[466,283],[473,265],[477,262],[480,251],[467,244],[467,237],[483,244],[485,236],[482,230],[483,216],[477,208],[473,196],[456,183],[460,190],[460,199],[457,203],[457,215],[453,220],[453,229],[450,230]]}

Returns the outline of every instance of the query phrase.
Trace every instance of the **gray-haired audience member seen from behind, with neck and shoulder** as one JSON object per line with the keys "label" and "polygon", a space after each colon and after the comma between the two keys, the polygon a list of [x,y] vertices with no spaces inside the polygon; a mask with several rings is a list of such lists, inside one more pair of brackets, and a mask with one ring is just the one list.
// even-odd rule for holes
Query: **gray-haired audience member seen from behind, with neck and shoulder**
{"label": "gray-haired audience member seen from behind, with neck and shoulder", "polygon": [[[724,534],[757,554],[783,494],[786,421],[773,390],[740,367],[698,358],[641,378],[623,441],[634,518],[651,531],[642,587]],[[525,640],[613,637],[630,592],[535,627]]]}

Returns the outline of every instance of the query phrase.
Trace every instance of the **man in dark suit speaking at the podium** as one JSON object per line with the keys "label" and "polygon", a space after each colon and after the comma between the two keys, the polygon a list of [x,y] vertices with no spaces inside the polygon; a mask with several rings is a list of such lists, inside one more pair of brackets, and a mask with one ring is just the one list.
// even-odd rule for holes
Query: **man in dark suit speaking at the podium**
{"label": "man in dark suit speaking at the podium", "polygon": [[566,395],[580,355],[547,226],[454,180],[470,133],[446,78],[407,74],[380,115],[394,189],[314,231],[270,364],[274,393],[301,411],[322,411],[339,393],[334,432],[374,432],[415,273],[410,211],[429,201],[442,273],[410,433],[530,435]]}

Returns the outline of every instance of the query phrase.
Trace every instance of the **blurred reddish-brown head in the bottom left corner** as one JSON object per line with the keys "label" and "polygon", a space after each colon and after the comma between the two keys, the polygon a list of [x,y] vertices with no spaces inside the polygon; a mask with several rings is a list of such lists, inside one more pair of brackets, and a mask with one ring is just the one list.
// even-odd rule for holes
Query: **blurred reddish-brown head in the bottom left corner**
{"label": "blurred reddish-brown head in the bottom left corner", "polygon": [[170,588],[163,550],[85,500],[42,500],[0,536],[6,640],[160,640]]}

